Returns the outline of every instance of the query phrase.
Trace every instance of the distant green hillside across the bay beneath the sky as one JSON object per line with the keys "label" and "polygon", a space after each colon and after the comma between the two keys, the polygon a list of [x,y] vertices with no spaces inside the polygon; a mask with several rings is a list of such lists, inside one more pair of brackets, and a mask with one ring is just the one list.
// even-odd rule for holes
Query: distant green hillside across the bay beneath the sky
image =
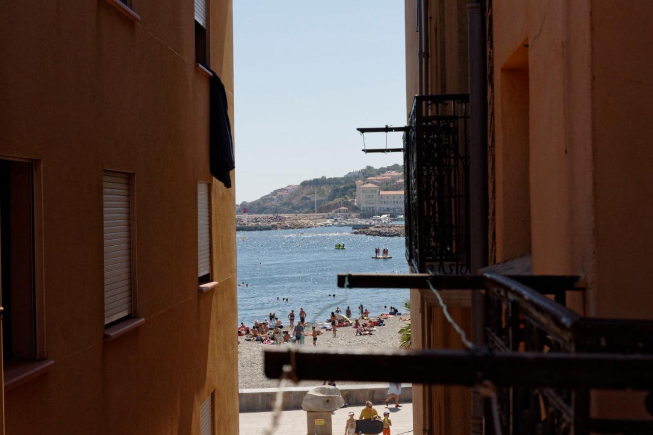
{"label": "distant green hillside across the bay beneath the sky", "polygon": [[[389,170],[404,172],[404,166],[392,165],[378,169],[368,166],[358,171],[349,172],[342,177],[327,178],[323,176],[313,178],[313,180],[304,180],[287,195],[283,195],[285,187],[280,187],[256,201],[242,202],[237,211],[240,212],[246,206],[247,212],[250,214],[312,213],[315,211],[316,191],[318,213],[330,212],[340,206],[357,211],[353,205],[356,198],[356,180],[365,180]],[[277,197],[276,203],[274,203],[274,197]]]}

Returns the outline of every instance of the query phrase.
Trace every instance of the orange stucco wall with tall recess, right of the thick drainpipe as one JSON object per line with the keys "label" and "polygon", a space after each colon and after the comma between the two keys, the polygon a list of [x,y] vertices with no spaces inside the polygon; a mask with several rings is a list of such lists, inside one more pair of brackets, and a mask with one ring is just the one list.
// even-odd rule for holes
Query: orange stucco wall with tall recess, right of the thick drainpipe
{"label": "orange stucco wall with tall recess, right of the thick drainpipe", "polygon": [[[593,317],[651,319],[647,267],[652,252],[650,101],[653,3],[494,0],[497,251],[515,250],[500,210],[520,198],[500,172],[528,149],[530,231],[535,274],[580,274],[587,282],[571,307]],[[528,44],[528,140],[511,152],[503,106],[509,59]],[[526,169],[524,169],[526,170]],[[516,210],[520,217],[525,210]],[[513,217],[514,218],[514,217]],[[509,257],[509,255],[507,256]],[[508,258],[502,258],[508,259]],[[644,417],[641,395],[594,394],[592,414]]]}

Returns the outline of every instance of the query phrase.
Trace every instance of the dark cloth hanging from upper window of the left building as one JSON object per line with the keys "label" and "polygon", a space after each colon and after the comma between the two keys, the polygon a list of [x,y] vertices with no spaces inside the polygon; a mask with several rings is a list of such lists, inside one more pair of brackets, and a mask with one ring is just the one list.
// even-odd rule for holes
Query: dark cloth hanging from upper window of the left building
{"label": "dark cloth hanging from upper window of the left building", "polygon": [[234,143],[229,123],[227,92],[222,80],[211,71],[210,114],[209,114],[209,160],[211,174],[227,189],[231,187],[229,171],[236,167]]}

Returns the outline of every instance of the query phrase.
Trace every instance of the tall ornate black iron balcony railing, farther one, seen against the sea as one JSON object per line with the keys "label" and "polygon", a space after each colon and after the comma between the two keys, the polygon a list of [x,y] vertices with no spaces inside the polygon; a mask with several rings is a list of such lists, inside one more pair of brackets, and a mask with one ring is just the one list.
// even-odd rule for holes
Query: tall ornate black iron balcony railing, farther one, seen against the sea
{"label": "tall ornate black iron balcony railing, farther one, seen against the sea", "polygon": [[406,259],[415,272],[470,271],[468,94],[418,95],[404,134]]}

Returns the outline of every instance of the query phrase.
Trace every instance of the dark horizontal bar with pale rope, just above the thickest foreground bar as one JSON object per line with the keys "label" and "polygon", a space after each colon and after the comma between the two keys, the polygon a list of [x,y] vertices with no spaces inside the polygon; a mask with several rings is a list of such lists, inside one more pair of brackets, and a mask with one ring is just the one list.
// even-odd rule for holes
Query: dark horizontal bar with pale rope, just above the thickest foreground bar
{"label": "dark horizontal bar with pale rope, just above the thickest foreground bar", "polygon": [[[506,278],[548,295],[582,290],[575,285],[578,276],[509,275]],[[345,280],[351,288],[428,290],[427,281],[430,281],[438,290],[480,290],[486,288],[487,278],[482,275],[338,274],[338,287],[345,287]]]}

